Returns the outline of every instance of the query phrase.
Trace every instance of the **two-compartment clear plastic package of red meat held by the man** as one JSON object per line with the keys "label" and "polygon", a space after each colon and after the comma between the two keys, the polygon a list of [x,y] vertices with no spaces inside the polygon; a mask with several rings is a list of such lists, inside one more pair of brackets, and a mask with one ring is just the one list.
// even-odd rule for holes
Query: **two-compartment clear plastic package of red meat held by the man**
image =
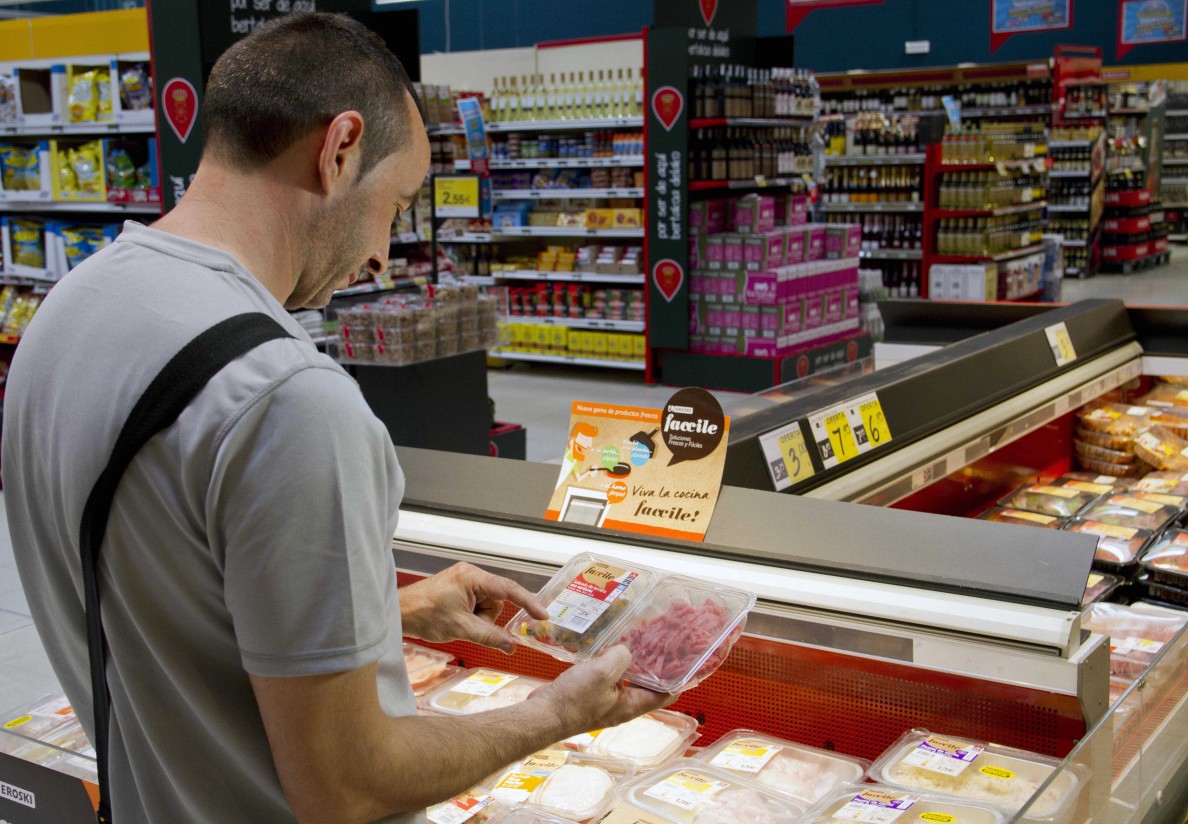
{"label": "two-compartment clear plastic package of red meat held by the man", "polygon": [[563,661],[626,644],[625,678],[659,692],[696,686],[741,636],[754,595],[669,575],[617,558],[581,553],[539,592],[549,620],[524,610],[507,623],[517,641]]}

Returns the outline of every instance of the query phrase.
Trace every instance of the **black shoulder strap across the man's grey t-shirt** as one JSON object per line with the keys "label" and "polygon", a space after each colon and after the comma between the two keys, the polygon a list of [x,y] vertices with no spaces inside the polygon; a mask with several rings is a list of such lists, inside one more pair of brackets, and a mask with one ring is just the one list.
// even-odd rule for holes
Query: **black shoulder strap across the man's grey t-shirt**
{"label": "black shoulder strap across the man's grey t-shirt", "polygon": [[95,714],[94,743],[99,759],[100,824],[112,822],[112,796],[107,771],[110,696],[107,690],[107,640],[99,611],[99,551],[107,531],[115,489],[140,448],[172,425],[211,378],[261,343],[280,337],[291,335],[267,315],[248,312],[215,324],[173,355],[132,408],[132,414],[115,440],[107,468],[91,488],[83,508],[78,545],[87,604],[87,647],[90,653],[90,690]]}

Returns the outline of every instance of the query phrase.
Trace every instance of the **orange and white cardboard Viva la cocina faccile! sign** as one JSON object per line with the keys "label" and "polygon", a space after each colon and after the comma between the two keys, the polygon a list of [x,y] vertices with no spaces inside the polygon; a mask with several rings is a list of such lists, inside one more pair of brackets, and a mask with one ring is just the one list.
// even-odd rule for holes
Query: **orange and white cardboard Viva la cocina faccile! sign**
{"label": "orange and white cardboard Viva la cocina faccile! sign", "polygon": [[729,418],[704,389],[661,410],[575,401],[545,518],[702,540],[718,503]]}

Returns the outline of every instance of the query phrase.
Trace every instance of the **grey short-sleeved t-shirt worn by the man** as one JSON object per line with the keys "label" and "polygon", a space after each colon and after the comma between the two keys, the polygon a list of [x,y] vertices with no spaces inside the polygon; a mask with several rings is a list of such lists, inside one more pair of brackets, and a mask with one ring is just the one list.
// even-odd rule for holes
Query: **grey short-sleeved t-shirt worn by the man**
{"label": "grey short-sleeved t-shirt worn by the man", "polygon": [[220,372],[132,462],[112,507],[100,592],[120,824],[293,820],[248,672],[378,661],[384,710],[416,711],[391,550],[404,476],[387,431],[229,254],[132,223],[53,289],[8,375],[5,503],[42,641],[93,730],[83,505],[166,361],[249,311],[297,340]]}

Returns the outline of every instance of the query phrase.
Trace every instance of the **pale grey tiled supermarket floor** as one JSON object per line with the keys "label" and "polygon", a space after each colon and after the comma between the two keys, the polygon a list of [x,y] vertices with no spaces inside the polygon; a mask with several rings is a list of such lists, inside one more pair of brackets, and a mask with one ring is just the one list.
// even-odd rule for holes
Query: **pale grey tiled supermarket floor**
{"label": "pale grey tiled supermarket floor", "polygon": [[[1173,265],[1132,275],[1098,275],[1068,280],[1064,299],[1124,298],[1137,305],[1188,305],[1188,251],[1178,247]],[[671,394],[665,386],[646,386],[638,373],[518,365],[489,373],[497,419],[527,427],[527,458],[560,462],[574,400],[633,406],[659,406]],[[720,397],[729,412],[744,395]],[[2,500],[2,494],[0,494]],[[29,616],[13,564],[8,525],[0,507],[0,712],[52,691],[57,680]]]}

